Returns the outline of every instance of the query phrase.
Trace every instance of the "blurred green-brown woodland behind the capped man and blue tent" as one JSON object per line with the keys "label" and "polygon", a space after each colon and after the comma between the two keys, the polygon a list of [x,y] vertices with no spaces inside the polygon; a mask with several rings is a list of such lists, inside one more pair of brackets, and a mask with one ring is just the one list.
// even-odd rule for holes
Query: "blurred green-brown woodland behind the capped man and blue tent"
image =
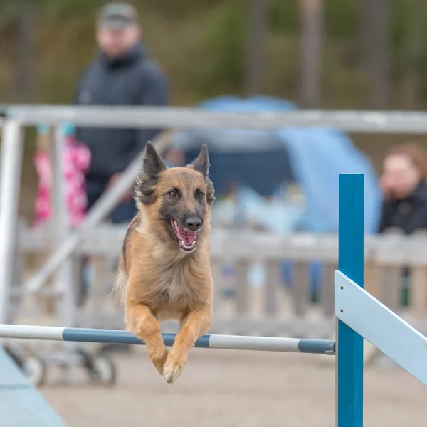
{"label": "blurred green-brown woodland behind the capped man and blue tent", "polygon": [[[69,103],[96,47],[102,0],[1,0],[1,102]],[[416,110],[425,105],[422,0],[135,0],[172,105],[271,95],[299,107]],[[405,135],[352,135],[379,171]],[[423,135],[418,137],[422,142]],[[33,146],[30,146],[33,147]],[[34,191],[30,166],[23,191]],[[31,215],[23,198],[21,209]]]}

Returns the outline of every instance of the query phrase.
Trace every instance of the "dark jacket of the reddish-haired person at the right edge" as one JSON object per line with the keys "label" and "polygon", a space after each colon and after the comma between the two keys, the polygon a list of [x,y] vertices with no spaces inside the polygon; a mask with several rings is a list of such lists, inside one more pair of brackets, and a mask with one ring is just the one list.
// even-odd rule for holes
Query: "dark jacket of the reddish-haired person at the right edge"
{"label": "dark jacket of the reddish-haired person at the right edge", "polygon": [[390,199],[384,202],[379,233],[383,233],[389,227],[399,227],[406,234],[411,234],[419,228],[427,228],[427,185],[425,183],[418,184],[412,194],[405,199]]}

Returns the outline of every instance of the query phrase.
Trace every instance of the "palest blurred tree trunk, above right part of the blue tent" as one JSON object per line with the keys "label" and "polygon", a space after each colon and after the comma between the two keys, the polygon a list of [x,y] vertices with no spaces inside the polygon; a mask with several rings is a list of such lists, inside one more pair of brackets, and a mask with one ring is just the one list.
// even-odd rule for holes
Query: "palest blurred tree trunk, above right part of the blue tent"
{"label": "palest blurred tree trunk, above right part of the blue tent", "polygon": [[300,104],[320,106],[322,81],[322,0],[300,0]]}

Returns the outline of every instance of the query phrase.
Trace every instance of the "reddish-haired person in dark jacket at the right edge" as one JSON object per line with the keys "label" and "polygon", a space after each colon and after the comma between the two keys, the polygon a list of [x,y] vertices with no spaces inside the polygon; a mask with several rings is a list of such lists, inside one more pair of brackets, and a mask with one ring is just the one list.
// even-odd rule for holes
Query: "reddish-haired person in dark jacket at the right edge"
{"label": "reddish-haired person in dark jacket at the right edge", "polygon": [[384,158],[384,194],[379,233],[398,227],[406,234],[427,229],[427,162],[417,144],[394,147]]}

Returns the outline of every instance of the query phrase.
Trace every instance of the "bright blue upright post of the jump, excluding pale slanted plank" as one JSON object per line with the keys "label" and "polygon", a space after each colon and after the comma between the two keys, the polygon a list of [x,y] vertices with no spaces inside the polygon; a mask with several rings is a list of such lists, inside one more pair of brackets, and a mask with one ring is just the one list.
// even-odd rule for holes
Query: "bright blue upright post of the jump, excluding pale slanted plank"
{"label": "bright blue upright post of the jump, excluding pale slanted plank", "polygon": [[[363,288],[363,174],[339,175],[338,269]],[[363,338],[337,319],[336,342],[336,426],[362,427]]]}

